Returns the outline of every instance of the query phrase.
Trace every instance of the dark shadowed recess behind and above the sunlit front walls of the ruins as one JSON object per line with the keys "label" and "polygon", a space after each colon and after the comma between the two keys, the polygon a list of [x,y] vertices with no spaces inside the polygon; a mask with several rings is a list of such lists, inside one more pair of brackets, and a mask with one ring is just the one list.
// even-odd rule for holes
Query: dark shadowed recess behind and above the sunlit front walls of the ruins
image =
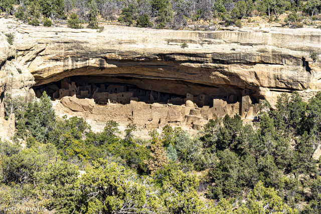
{"label": "dark shadowed recess behind and above the sunlit front walls of the ruins", "polygon": [[198,107],[213,107],[213,99],[228,103],[241,101],[241,89],[219,88],[182,80],[147,79],[110,76],[71,76],[60,81],[33,87],[36,96],[46,93],[52,100],[65,96],[91,98],[97,104],[128,104],[131,100],[145,103],[183,105],[193,100]]}

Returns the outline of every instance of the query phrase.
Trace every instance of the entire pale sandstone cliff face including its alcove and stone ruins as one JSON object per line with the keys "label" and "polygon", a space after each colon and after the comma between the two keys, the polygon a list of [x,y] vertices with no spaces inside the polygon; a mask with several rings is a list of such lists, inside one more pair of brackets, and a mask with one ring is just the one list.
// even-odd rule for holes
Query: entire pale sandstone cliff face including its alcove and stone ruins
{"label": "entire pale sandstone cliff face including its alcove and stone ruins", "polygon": [[[15,31],[12,46],[1,43],[6,78],[0,94],[23,92],[31,98],[45,90],[58,116],[83,117],[92,126],[103,128],[114,119],[122,127],[171,123],[198,129],[215,116],[253,118],[261,99],[273,108],[282,92],[297,91],[306,101],[320,90],[319,29],[191,32],[107,26],[98,33],[0,23],[2,32]],[[182,48],[184,43],[188,47]],[[8,61],[13,58],[16,64]]]}

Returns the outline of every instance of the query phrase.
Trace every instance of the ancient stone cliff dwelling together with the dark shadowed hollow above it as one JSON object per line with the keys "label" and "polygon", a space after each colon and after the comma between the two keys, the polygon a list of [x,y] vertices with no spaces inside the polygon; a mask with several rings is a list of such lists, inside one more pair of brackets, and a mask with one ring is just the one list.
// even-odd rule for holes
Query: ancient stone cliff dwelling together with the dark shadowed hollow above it
{"label": "ancient stone cliff dwelling together with the dark shadowed hollow above it", "polygon": [[78,112],[96,122],[130,121],[147,129],[170,123],[199,130],[215,117],[239,114],[253,118],[258,110],[250,89],[179,80],[71,76],[33,89],[38,98],[46,91],[62,114]]}

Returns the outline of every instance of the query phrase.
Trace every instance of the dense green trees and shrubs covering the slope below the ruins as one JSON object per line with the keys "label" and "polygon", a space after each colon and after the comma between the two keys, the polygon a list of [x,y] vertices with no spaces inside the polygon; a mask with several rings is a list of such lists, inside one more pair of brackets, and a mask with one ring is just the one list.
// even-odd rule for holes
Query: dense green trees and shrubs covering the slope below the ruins
{"label": "dense green trees and shrubs covering the slope below the ruins", "polygon": [[194,138],[167,125],[150,131],[148,141],[135,138],[134,124],[121,133],[108,121],[94,133],[82,118],[57,118],[46,93],[30,103],[10,94],[4,101],[17,132],[15,143],[0,140],[1,206],[57,213],[321,213],[320,160],[312,158],[321,143],[321,92],[307,103],[296,92],[283,93],[276,110],[263,101],[261,121],[253,125],[226,115]]}

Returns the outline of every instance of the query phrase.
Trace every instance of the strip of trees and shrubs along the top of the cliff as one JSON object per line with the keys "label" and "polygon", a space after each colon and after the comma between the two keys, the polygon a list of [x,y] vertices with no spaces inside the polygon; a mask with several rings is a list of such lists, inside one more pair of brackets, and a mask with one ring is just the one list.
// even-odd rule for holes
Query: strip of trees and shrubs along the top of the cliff
{"label": "strip of trees and shrubs along the top of the cliff", "polygon": [[299,28],[303,23],[311,24],[319,19],[315,15],[320,9],[320,0],[0,0],[0,12],[15,15],[32,25],[37,26],[45,18],[65,20],[70,17],[75,21],[75,16],[71,15],[76,12],[92,29],[98,29],[98,15],[108,21],[118,19],[127,26],[180,29],[189,21],[197,29],[196,23],[214,19],[226,26],[239,27],[242,26],[240,19],[246,17],[263,16],[269,21],[278,21],[285,12],[284,21],[292,28]]}

